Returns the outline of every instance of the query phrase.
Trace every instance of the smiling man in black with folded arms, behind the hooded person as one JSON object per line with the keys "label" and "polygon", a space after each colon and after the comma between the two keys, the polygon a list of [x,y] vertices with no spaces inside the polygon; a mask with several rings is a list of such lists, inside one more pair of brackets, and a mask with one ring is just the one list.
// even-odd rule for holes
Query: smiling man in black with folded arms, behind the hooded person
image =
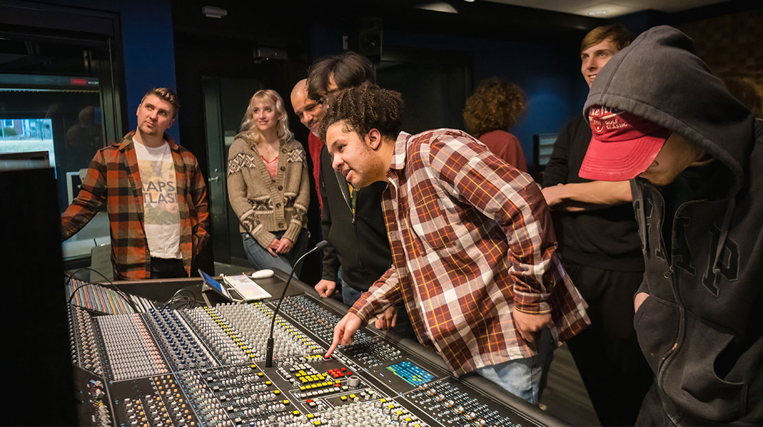
{"label": "smiling man in black with folded arms, behind the hooded person", "polygon": [[[621,24],[596,27],[583,37],[581,73],[589,87],[632,41]],[[543,172],[543,197],[558,226],[562,264],[591,317],[591,326],[567,345],[601,425],[633,425],[652,385],[630,309],[644,277],[639,225],[628,181],[578,176],[589,142],[585,117],[565,126]]]}

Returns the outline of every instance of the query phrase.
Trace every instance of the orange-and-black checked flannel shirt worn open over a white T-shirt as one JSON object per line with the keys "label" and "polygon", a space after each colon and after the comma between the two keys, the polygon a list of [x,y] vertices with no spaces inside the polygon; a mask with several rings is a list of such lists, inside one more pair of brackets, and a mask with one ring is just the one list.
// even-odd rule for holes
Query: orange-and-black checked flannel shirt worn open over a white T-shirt
{"label": "orange-and-black checked flannel shirt worn open over a white T-shirt", "polygon": [[[106,204],[111,228],[111,263],[114,278],[151,277],[151,255],[143,228],[143,185],[133,135],[121,143],[99,149],[90,163],[82,190],[61,217],[63,240],[82,229]],[[190,275],[192,258],[209,239],[207,187],[195,156],[165,135],[172,151],[180,210],[180,252]]]}

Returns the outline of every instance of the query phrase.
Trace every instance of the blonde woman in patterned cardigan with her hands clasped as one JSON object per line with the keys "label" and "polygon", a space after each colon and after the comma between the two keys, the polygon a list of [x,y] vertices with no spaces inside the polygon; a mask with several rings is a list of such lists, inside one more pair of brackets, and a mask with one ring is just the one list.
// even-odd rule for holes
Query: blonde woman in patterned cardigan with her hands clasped
{"label": "blonde woman in patterned cardigan with her hands clasped", "polygon": [[246,256],[258,269],[289,272],[307,250],[306,159],[288,129],[281,96],[256,92],[228,151],[228,199]]}

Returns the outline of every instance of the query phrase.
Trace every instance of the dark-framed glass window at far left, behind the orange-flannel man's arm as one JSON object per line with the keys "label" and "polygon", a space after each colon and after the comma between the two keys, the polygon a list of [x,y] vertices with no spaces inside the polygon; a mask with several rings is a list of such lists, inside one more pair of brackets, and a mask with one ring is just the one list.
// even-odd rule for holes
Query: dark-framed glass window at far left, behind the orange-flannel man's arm
{"label": "dark-framed glass window at far left, behind the orange-flannel man's arm", "polygon": [[[63,212],[95,152],[121,136],[121,108],[111,37],[45,33],[0,31],[0,153],[47,152]],[[109,242],[100,212],[64,242],[63,258]]]}

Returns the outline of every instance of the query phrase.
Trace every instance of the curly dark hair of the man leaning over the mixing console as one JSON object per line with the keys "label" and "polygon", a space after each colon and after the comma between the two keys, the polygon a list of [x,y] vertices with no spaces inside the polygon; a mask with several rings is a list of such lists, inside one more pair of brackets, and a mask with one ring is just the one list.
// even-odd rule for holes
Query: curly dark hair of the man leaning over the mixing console
{"label": "curly dark hair of the man leaning over the mixing console", "polygon": [[327,109],[320,120],[320,139],[326,130],[345,120],[350,130],[363,136],[376,129],[383,136],[396,138],[401,130],[403,98],[400,92],[379,88],[370,82],[333,92],[326,100]]}

